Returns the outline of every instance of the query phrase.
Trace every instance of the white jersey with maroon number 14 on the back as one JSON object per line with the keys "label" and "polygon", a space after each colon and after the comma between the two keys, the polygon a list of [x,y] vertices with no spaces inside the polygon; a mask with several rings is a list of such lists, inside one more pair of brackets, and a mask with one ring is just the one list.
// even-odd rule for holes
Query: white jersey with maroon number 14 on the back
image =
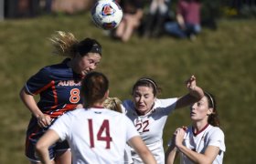
{"label": "white jersey with maroon number 14 on the back", "polygon": [[125,115],[106,108],[79,108],[50,127],[67,139],[72,163],[123,163],[126,141],[139,136]]}

